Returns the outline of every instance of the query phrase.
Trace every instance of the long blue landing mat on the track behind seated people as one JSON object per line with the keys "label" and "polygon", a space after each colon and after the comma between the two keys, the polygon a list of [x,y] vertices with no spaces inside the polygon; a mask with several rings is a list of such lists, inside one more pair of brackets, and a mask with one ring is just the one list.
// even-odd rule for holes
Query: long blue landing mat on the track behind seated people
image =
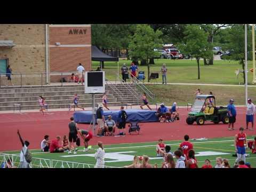
{"label": "long blue landing mat on the track behind seated people", "polygon": [[[142,110],[142,109],[125,109],[128,118],[127,122],[157,122],[158,117],[156,111],[153,110]],[[103,115],[107,119],[108,115],[112,116],[114,121],[117,121],[119,110],[104,110]],[[77,111],[74,113],[74,120],[76,123],[91,123],[92,111]]]}

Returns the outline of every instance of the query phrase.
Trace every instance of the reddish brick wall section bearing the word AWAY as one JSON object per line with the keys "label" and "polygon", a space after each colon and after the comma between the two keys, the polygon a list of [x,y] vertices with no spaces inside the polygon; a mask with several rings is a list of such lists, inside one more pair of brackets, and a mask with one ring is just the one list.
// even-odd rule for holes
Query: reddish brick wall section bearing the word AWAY
{"label": "reddish brick wall section bearing the word AWAY", "polygon": [[[82,63],[85,70],[91,70],[91,27],[49,28],[50,71],[76,71],[78,63]],[[70,30],[78,30],[78,34],[70,34]],[[79,34],[80,30],[83,34]],[[51,82],[60,82],[60,79],[60,76],[51,76]]]}

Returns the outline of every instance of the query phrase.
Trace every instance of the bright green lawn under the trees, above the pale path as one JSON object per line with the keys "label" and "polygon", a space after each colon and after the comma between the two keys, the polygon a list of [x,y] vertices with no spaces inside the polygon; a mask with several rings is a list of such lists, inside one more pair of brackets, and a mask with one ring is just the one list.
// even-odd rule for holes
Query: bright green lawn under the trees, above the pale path
{"label": "bright green lawn under the trees, above the pale path", "polygon": [[[131,60],[119,60],[119,69],[123,63],[130,66]],[[242,75],[236,78],[235,70],[242,69],[242,65],[238,61],[216,60],[212,66],[204,66],[201,63],[201,79],[197,79],[197,63],[196,60],[171,60],[171,59],[155,59],[155,65],[150,65],[150,73],[159,73],[158,82],[162,81],[161,67],[166,63],[167,66],[167,82],[169,83],[213,83],[213,84],[238,84],[243,83]],[[92,62],[92,69],[99,67],[99,62]],[[139,70],[145,71],[147,79],[147,67],[138,66]],[[252,68],[252,61],[248,62],[248,68]],[[110,81],[117,79],[117,62],[105,62],[106,78]],[[248,84],[252,82],[252,73],[248,73]]]}

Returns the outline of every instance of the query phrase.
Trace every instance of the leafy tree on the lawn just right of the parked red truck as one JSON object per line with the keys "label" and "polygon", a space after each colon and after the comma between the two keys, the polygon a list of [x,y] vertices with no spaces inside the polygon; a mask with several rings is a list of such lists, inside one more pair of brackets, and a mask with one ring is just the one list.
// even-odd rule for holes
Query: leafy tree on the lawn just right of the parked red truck
{"label": "leafy tree on the lawn just right of the parked red truck", "polygon": [[179,48],[185,54],[190,54],[197,61],[198,79],[200,79],[199,61],[201,58],[210,58],[212,51],[207,50],[209,43],[207,42],[207,34],[201,30],[198,25],[188,25],[184,32],[186,37],[183,44]]}

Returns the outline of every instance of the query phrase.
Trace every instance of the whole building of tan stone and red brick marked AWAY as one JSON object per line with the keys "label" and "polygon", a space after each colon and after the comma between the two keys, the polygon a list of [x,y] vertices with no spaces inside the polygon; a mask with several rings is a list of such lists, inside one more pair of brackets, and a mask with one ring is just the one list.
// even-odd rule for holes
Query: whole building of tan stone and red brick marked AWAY
{"label": "whole building of tan stone and red brick marked AWAY", "polygon": [[0,73],[10,65],[14,84],[59,82],[54,72],[70,76],[78,63],[91,70],[91,25],[0,24]]}

